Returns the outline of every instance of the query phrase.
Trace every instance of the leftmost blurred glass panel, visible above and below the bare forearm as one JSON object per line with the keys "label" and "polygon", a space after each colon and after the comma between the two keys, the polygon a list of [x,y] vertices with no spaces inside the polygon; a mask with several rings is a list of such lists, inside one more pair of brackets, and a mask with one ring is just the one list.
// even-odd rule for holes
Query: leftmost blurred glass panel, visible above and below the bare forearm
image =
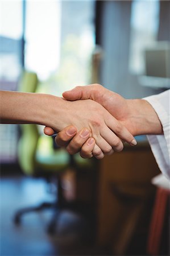
{"label": "leftmost blurred glass panel, visible above and below the bare forearm", "polygon": [[[22,1],[1,1],[0,89],[16,90],[21,65]],[[18,139],[17,125],[0,125],[0,160],[14,162]]]}

